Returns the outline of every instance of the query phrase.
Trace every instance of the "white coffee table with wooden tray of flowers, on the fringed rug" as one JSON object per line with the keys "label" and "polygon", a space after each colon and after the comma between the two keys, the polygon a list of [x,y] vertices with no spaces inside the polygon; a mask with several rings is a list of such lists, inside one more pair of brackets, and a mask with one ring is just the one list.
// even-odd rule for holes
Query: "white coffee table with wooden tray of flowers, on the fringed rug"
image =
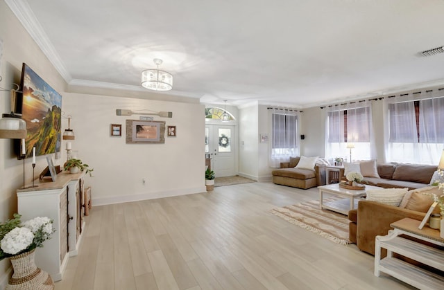
{"label": "white coffee table with wooden tray of flowers, on the fringed rug", "polygon": [[[343,215],[348,215],[349,210],[357,208],[358,206],[357,198],[364,197],[366,195],[366,190],[377,190],[377,189],[381,188],[378,188],[377,186],[373,185],[366,185],[366,188],[364,190],[348,190],[339,187],[339,183],[321,185],[318,186],[319,208],[321,208],[321,210],[323,208],[327,208],[328,210],[339,212]],[[323,198],[325,194],[333,194],[337,197],[344,197],[344,199],[324,202]]]}

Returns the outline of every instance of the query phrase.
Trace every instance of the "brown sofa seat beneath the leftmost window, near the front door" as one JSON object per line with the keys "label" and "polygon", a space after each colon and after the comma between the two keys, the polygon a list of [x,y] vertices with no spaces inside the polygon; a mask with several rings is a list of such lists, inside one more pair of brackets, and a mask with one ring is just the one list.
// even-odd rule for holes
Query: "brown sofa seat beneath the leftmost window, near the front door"
{"label": "brown sofa seat beneath the leftmost window, near the front door", "polygon": [[273,170],[273,183],[293,188],[314,188],[325,185],[325,166],[316,165],[314,170],[295,168],[300,157],[290,157],[289,162],[280,163],[280,169]]}

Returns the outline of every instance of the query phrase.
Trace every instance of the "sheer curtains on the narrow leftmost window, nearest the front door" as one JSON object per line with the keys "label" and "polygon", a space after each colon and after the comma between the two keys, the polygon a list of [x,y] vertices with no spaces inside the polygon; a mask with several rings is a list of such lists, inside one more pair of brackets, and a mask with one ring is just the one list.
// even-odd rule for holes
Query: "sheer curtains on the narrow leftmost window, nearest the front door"
{"label": "sheer curtains on the narrow leftmost window, nearest the front door", "polygon": [[289,157],[299,156],[299,112],[291,109],[268,109],[271,120],[271,142],[269,165],[280,167]]}

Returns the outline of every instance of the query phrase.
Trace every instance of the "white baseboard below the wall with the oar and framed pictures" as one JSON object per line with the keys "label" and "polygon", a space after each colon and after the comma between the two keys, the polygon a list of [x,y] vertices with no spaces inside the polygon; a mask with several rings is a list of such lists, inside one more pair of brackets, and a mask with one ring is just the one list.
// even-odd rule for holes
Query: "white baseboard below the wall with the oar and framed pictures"
{"label": "white baseboard below the wall with the oar and framed pictures", "polygon": [[146,199],[160,199],[162,197],[178,197],[179,195],[206,192],[205,185],[202,188],[188,188],[185,190],[169,190],[160,192],[147,192],[142,194],[119,195],[118,197],[100,197],[92,199],[92,206],[105,206],[114,203],[124,203],[131,201],[143,201]]}

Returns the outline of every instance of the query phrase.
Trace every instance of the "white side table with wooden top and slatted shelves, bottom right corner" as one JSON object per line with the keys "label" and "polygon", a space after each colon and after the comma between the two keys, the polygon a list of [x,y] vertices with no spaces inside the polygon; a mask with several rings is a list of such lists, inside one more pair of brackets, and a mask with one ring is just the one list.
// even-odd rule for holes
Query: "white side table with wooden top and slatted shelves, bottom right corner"
{"label": "white side table with wooden top and slatted shelves, bottom right corner", "polygon": [[[375,276],[379,277],[379,273],[384,272],[419,289],[444,289],[443,276],[393,257],[393,253],[398,253],[444,271],[443,250],[400,237],[400,235],[408,235],[444,246],[444,239],[439,237],[439,230],[434,230],[428,226],[424,226],[420,230],[418,229],[420,222],[406,217],[391,224],[395,229],[391,230],[388,235],[376,236]],[[381,248],[387,249],[387,257],[382,260]]]}

